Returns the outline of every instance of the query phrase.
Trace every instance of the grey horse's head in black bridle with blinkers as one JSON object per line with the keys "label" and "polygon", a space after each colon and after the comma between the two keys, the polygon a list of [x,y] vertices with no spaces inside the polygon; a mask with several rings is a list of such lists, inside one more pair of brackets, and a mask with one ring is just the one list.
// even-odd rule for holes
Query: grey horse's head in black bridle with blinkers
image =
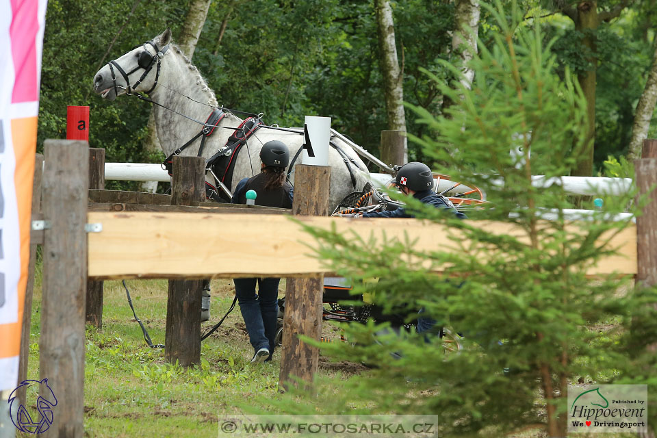
{"label": "grey horse's head in black bridle with blinkers", "polygon": [[94,75],[94,92],[109,101],[136,91],[149,94],[157,85],[160,59],[166,54],[170,41],[171,29],[167,28],[152,40],[105,64]]}

